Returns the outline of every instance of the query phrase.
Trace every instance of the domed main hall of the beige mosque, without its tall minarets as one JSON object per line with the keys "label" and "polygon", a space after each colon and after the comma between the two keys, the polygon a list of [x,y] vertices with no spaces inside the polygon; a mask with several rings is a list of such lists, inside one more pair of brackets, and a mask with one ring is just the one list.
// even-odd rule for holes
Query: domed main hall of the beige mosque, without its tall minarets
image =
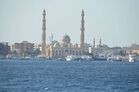
{"label": "domed main hall of the beige mosque, without its tall minarets", "polygon": [[64,58],[68,55],[81,56],[83,54],[83,48],[80,48],[79,44],[72,44],[68,35],[62,37],[62,41],[53,41],[47,47],[47,56],[50,58]]}

